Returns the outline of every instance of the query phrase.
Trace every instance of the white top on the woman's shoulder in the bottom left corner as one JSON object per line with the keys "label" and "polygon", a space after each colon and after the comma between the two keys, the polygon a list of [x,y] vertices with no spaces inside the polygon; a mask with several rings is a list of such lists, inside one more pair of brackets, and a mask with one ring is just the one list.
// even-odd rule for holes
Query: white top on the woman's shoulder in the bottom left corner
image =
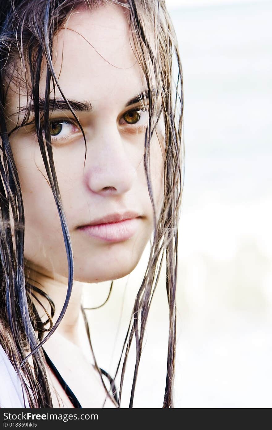
{"label": "white top on the woman's shoulder in the bottom left corner", "polygon": [[[20,379],[0,345],[0,408],[29,408]],[[24,397],[23,397],[24,391]],[[24,405],[25,399],[25,405]]]}

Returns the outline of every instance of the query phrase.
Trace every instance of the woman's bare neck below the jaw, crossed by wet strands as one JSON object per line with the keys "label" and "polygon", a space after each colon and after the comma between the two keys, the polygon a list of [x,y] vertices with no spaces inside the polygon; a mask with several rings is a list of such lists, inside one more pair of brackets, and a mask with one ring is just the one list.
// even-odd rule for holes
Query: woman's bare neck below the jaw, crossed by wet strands
{"label": "woman's bare neck below the jaw, crossed by wet strands", "polygon": [[[25,266],[25,275],[26,282],[45,292],[53,301],[55,305],[55,314],[52,318],[52,321],[55,323],[64,305],[67,294],[68,279],[64,276],[49,273],[43,268],[37,267],[34,264],[30,264],[29,262]],[[79,281],[73,282],[73,289],[67,310],[60,322],[60,325],[57,328],[58,334],[63,335],[67,340],[77,345],[79,344],[80,333],[82,287],[83,284]],[[43,303],[44,307],[47,311],[49,311],[50,314],[50,305],[46,298],[43,298],[37,292],[34,292],[34,295]],[[34,304],[39,315],[44,320],[44,310],[38,304],[38,302],[35,301],[35,299]]]}

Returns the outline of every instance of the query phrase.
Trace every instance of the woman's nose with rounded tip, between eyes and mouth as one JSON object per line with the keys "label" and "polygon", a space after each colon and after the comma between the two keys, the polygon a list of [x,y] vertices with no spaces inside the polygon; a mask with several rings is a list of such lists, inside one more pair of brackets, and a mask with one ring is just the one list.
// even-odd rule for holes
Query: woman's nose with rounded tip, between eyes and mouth
{"label": "woman's nose with rounded tip, between eyes and mouth", "polygon": [[129,143],[122,138],[116,125],[103,126],[87,141],[84,182],[93,193],[119,195],[128,192],[136,175]]}

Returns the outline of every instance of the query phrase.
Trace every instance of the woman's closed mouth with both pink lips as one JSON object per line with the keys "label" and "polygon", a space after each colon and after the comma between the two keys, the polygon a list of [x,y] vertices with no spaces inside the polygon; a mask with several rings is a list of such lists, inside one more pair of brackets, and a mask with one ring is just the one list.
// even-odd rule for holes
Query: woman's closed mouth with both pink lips
{"label": "woman's closed mouth with both pink lips", "polygon": [[104,242],[122,242],[131,239],[139,228],[142,215],[136,212],[114,213],[78,227],[87,236]]}

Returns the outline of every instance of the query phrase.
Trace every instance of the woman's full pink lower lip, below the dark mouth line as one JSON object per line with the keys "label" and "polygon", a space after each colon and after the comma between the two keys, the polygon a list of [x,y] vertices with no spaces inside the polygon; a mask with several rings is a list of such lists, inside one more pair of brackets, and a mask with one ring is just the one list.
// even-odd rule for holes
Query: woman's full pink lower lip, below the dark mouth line
{"label": "woman's full pink lower lip, below the dark mouth line", "polygon": [[122,242],[134,236],[138,223],[139,218],[133,218],[107,224],[86,225],[79,227],[79,230],[104,242]]}

